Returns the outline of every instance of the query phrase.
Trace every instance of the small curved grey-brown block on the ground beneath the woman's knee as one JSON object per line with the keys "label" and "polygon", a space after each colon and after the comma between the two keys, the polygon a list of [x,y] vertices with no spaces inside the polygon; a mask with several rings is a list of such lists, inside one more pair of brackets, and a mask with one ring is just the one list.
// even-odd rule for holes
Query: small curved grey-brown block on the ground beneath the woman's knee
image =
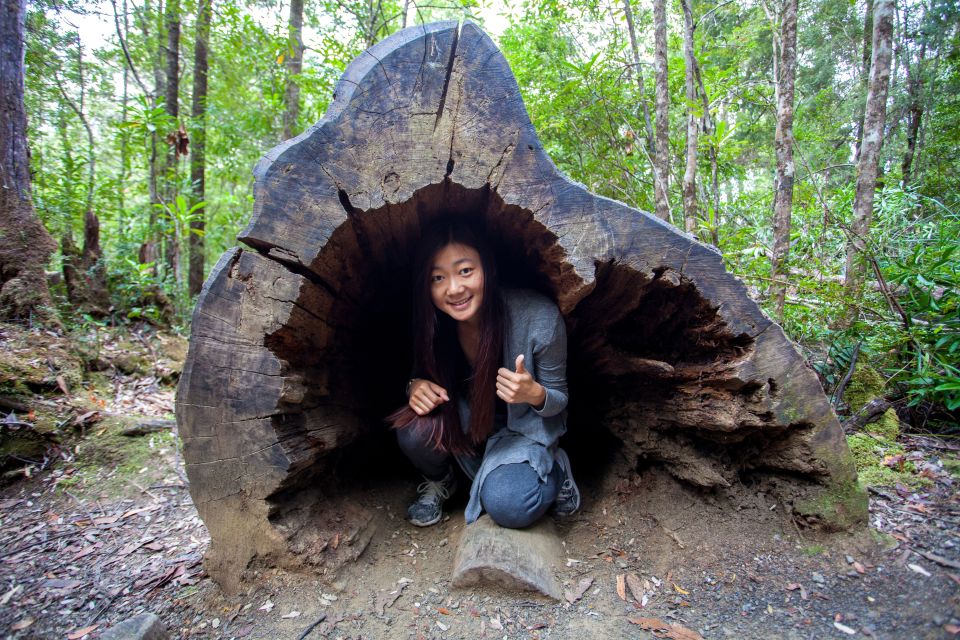
{"label": "small curved grey-brown block on the ground beneath the woman's knee", "polygon": [[554,575],[561,560],[560,538],[548,519],[526,529],[506,529],[483,515],[463,532],[453,569],[453,586],[493,584],[537,591],[560,600]]}

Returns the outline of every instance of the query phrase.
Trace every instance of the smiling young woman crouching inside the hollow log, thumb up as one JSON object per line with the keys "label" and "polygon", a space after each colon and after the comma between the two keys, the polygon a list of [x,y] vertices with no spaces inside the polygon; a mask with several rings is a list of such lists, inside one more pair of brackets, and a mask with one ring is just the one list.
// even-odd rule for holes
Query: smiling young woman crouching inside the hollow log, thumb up
{"label": "smiling young woman crouching inside the hollow log, thumb up", "polygon": [[533,524],[555,505],[580,507],[566,430],[566,329],[546,297],[497,286],[492,253],[459,221],[429,229],[414,264],[414,370],[408,405],[391,416],[400,448],[424,476],[407,515],[440,521],[456,489],[452,462],[470,478],[467,523],[486,511],[499,525]]}

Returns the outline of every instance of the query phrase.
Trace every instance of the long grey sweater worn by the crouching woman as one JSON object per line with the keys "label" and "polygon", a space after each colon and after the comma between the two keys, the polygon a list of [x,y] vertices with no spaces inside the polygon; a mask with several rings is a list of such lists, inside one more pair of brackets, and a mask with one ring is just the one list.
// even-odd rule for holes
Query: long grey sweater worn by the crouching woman
{"label": "long grey sweater worn by the crouching woman", "polygon": [[[567,422],[567,330],[560,310],[547,297],[526,289],[505,289],[506,335],[503,366],[513,371],[521,353],[527,371],[547,392],[539,411],[529,404],[508,404],[506,424],[487,440],[479,468],[476,459],[458,459],[476,474],[464,513],[467,524],[480,517],[480,488],[487,474],[504,464],[528,462],[541,480],[553,469],[557,440]],[[470,406],[458,398],[460,420],[470,424]],[[474,467],[474,468],[471,468]]]}

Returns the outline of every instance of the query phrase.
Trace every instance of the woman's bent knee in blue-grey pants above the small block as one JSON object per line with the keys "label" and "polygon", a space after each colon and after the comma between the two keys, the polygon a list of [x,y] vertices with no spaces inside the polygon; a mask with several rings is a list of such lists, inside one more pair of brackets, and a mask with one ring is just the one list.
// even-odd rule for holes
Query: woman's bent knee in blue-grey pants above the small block
{"label": "woman's bent knee in blue-grey pants above the small block", "polygon": [[527,463],[505,464],[487,475],[480,489],[483,509],[501,527],[522,529],[543,516],[559,489],[554,474],[547,481]]}

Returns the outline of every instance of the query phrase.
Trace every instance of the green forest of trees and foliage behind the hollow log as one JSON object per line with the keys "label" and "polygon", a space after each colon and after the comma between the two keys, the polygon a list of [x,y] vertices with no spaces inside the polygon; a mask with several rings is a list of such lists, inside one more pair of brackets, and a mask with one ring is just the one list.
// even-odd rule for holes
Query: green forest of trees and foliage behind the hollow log
{"label": "green forest of trees and foliage behind the hollow log", "polygon": [[[49,237],[18,258],[40,286],[8,287],[26,267],[0,256],[7,318],[188,331],[259,158],[320,119],[367,47],[471,19],[559,167],[717,246],[841,413],[860,409],[838,391],[859,361],[881,408],[957,433],[951,0],[22,2],[4,11],[25,12],[27,184]],[[23,223],[0,213],[9,238]]]}

